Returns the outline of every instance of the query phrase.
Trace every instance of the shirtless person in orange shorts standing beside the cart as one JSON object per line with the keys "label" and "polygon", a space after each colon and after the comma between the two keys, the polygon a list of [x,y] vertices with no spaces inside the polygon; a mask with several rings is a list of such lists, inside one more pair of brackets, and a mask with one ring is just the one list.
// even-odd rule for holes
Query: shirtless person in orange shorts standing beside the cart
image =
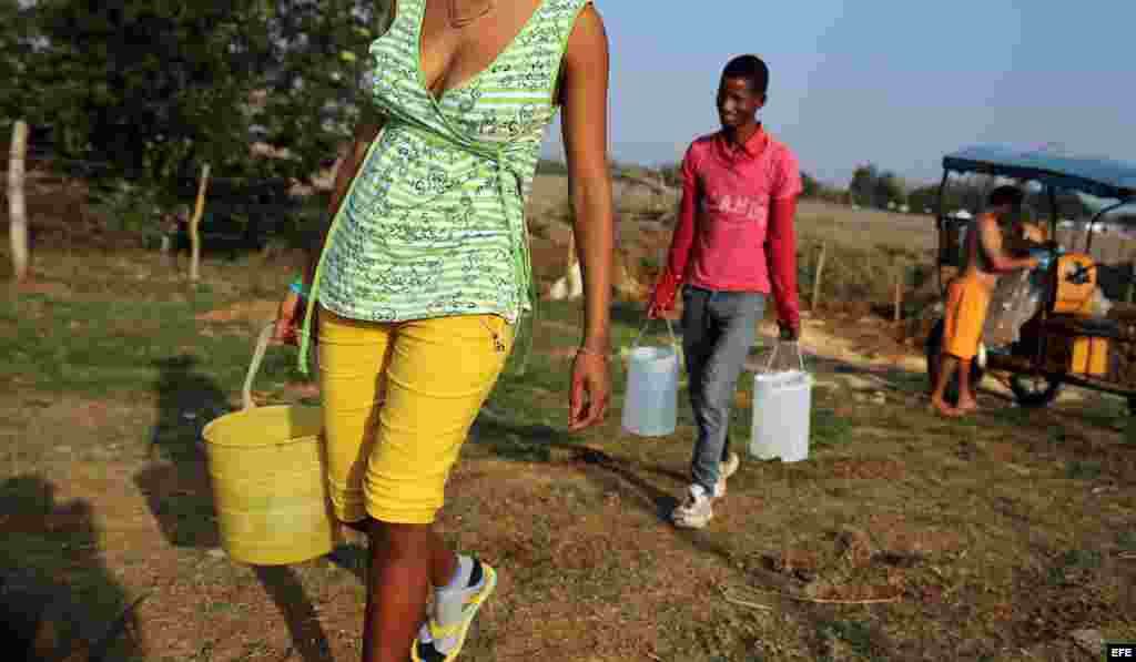
{"label": "shirtless person in orange shorts standing beside the cart", "polygon": [[[943,320],[942,361],[932,407],[943,416],[959,417],[978,409],[970,386],[970,362],[978,353],[991,293],[1001,274],[1042,265],[1037,257],[1013,258],[1003,249],[1002,225],[1018,217],[1022,193],[1014,186],[999,186],[986,201],[986,211],[975,221],[977,232],[968,232],[961,275],[947,285],[946,315]],[[959,374],[959,400],[951,405],[946,386]]]}

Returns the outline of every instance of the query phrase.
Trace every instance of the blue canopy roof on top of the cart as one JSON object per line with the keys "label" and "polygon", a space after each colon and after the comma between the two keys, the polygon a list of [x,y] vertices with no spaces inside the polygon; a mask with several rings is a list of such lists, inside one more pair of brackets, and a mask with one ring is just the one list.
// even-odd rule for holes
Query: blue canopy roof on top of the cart
{"label": "blue canopy roof on top of the cart", "polygon": [[943,157],[943,169],[1035,179],[1097,198],[1136,200],[1136,162],[1067,154],[1045,148],[972,145]]}

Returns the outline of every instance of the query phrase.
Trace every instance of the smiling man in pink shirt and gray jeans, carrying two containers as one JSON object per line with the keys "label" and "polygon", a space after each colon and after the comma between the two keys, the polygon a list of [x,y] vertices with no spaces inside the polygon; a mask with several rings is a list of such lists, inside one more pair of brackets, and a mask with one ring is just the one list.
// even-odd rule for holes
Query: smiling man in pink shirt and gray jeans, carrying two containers
{"label": "smiling man in pink shirt and gray jeans, carrying two containers", "polygon": [[683,159],[683,202],[648,316],[674,309],[683,286],[683,351],[699,436],[693,483],[671,517],[701,528],[740,460],[729,452],[729,412],[771,292],[782,340],[800,337],[793,216],[801,175],[793,152],[758,121],[769,69],[755,56],[726,65],[718,87],[721,131]]}

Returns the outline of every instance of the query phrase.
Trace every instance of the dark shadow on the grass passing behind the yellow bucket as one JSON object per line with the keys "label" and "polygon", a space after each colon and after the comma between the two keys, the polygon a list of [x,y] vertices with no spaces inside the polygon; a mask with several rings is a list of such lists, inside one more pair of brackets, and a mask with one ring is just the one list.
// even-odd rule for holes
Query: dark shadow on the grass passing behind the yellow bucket
{"label": "dark shadow on the grass passing behind the yellow bucket", "polygon": [[[175,547],[217,548],[220,534],[201,431],[228,409],[227,397],[197,370],[192,357],[162,359],[157,364],[159,414],[150,453],[157,461],[140,471],[134,483],[166,542]],[[327,637],[295,571],[253,567],[253,572],[279,609],[299,656],[304,662],[331,660]]]}

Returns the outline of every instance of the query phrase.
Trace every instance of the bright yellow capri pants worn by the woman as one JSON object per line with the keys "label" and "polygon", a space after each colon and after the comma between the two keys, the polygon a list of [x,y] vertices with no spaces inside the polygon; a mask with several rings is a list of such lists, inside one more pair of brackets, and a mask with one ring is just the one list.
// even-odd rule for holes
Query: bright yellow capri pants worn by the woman
{"label": "bright yellow capri pants worn by the woman", "polygon": [[320,308],[327,481],[341,521],[434,521],[512,340],[495,315],[385,324]]}

